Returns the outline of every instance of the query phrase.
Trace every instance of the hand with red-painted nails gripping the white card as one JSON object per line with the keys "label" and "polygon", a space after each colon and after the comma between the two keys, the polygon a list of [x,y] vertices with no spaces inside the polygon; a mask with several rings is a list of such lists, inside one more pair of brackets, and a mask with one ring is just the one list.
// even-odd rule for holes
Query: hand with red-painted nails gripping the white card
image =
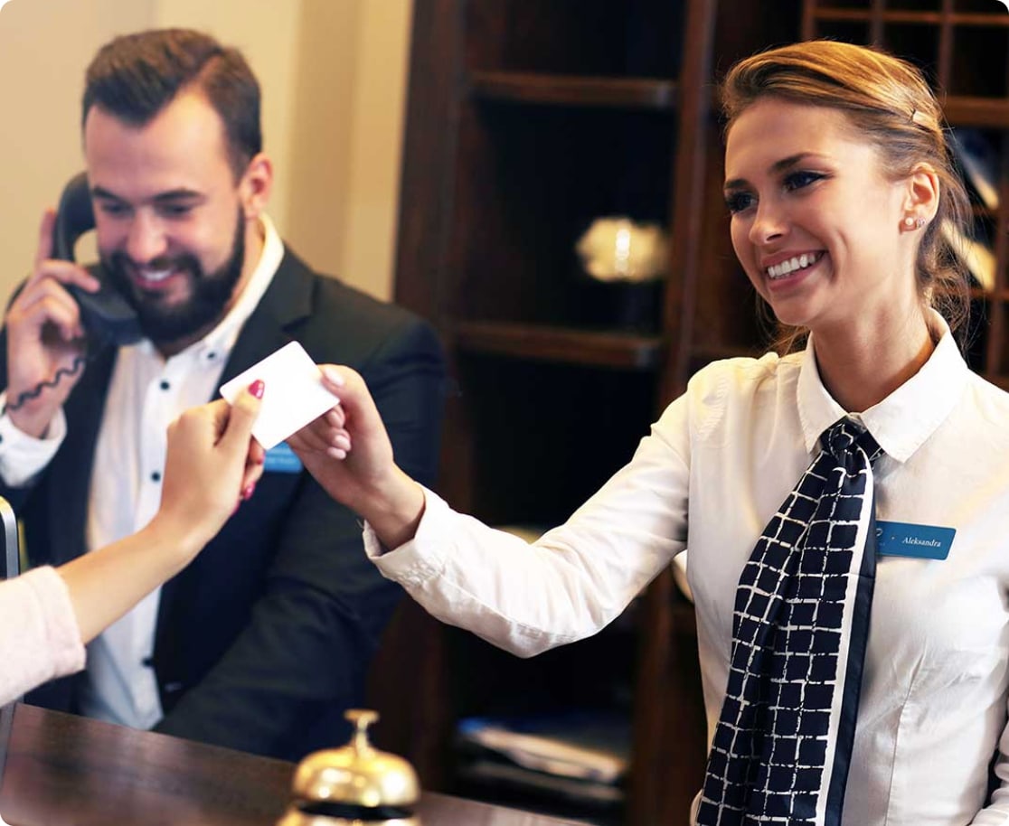
{"label": "hand with red-painted nails gripping the white card", "polygon": [[155,520],[179,532],[196,553],[262,475],[264,452],[252,439],[263,383],[254,381],[234,406],[223,398],[186,410],[169,426],[161,504]]}

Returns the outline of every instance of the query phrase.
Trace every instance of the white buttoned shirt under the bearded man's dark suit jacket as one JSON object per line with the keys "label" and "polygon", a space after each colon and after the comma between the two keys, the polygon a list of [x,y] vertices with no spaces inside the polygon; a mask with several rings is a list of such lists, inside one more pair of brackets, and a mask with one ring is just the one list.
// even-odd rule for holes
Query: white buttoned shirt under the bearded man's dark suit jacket
{"label": "white buttoned shirt under the bearded man's dark suit jacket", "polygon": [[[184,410],[213,397],[242,325],[284,257],[284,243],[272,222],[262,216],[261,223],[259,261],[217,327],[167,360],[147,340],[119,349],[95,448],[86,527],[89,551],[139,530],[157,512],[167,427]],[[5,437],[0,442],[0,472],[8,484],[23,484],[55,453],[66,431],[63,410],[45,440],[31,439],[9,421],[5,426],[5,419],[0,419],[0,435]],[[16,476],[8,476],[8,467]],[[150,668],[159,601],[160,589],[88,645],[80,699],[87,716],[135,728],[150,728],[161,718]]]}

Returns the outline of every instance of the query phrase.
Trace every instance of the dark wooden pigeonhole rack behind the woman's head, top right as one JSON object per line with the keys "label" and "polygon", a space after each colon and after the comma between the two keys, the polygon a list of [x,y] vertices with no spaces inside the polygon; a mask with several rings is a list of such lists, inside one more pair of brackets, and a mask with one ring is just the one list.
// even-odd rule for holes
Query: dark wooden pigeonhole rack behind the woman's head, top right
{"label": "dark wooden pigeonhole rack behind the woman's head, top right", "polygon": [[912,61],[939,93],[952,133],[970,130],[990,153],[987,197],[969,187],[985,271],[969,360],[1009,388],[1009,10],[999,0],[806,0],[802,35],[874,43]]}

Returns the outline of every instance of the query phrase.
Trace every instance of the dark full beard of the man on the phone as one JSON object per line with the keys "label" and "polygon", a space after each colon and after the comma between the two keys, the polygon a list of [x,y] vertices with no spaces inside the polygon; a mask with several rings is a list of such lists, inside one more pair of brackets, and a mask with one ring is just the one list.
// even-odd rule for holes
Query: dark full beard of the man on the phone
{"label": "dark full beard of the man on the phone", "polygon": [[239,210],[231,255],[213,272],[204,271],[199,259],[189,253],[164,256],[149,262],[157,269],[171,267],[189,274],[192,294],[178,306],[165,306],[156,293],[134,285],[127,274],[132,264],[126,253],[113,252],[110,256],[102,255],[101,259],[112,285],[136,311],[143,334],[155,345],[182,341],[212,329],[216,322],[224,318],[225,308],[231,301],[245,263],[244,216]]}

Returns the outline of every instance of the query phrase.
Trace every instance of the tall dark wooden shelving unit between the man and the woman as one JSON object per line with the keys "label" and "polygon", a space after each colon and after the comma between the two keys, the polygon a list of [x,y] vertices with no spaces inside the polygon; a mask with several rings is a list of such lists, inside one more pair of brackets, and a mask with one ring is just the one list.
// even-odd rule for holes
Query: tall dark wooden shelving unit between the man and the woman
{"label": "tall dark wooden shelving unit between the man and the woman", "polygon": [[[439,492],[454,506],[559,523],[697,366],[759,349],[713,81],[795,39],[799,19],[798,0],[773,15],[749,0],[416,0],[396,300],[449,355]],[[576,240],[604,216],[667,231],[662,282],[584,273]],[[376,740],[427,788],[473,791],[453,772],[460,717],[558,707],[615,710],[633,730],[628,804],[598,822],[683,823],[702,777],[692,611],[668,573],[596,637],[531,661],[405,605],[371,692]]]}

